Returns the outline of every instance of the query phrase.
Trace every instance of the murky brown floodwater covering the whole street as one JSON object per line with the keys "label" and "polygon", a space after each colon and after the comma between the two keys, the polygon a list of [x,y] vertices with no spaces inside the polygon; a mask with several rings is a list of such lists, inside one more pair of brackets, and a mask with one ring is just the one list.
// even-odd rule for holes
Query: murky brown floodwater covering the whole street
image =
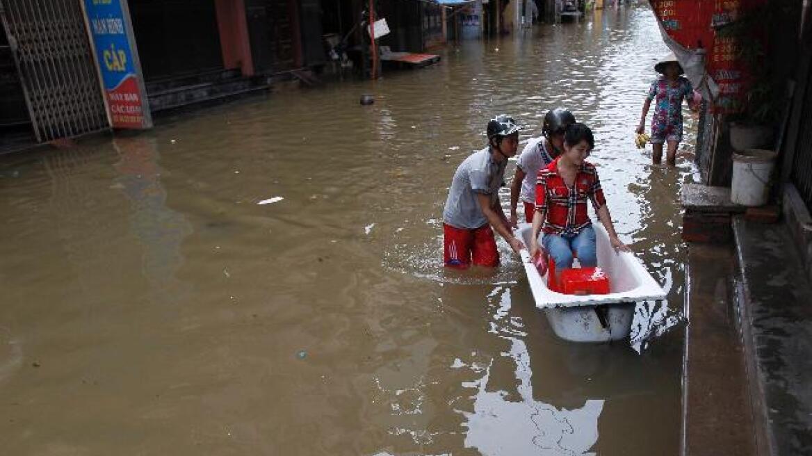
{"label": "murky brown floodwater covering the whole street", "polygon": [[693,166],[633,144],[666,52],[647,7],[598,11],[2,157],[0,453],[678,454],[681,329],[642,355],[563,342],[505,243],[496,271],[440,260],[487,119],[526,140],[566,105],[622,239],[681,308]]}

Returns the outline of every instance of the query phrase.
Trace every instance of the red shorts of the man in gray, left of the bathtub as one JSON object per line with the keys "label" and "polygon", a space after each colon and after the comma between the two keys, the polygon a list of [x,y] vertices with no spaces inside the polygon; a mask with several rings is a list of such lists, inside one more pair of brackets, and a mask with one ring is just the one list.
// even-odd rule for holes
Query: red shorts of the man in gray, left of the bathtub
{"label": "red shorts of the man in gray, left of the bathtub", "polygon": [[449,268],[468,268],[472,258],[476,266],[499,266],[499,251],[490,225],[463,230],[443,223],[443,238],[443,259]]}

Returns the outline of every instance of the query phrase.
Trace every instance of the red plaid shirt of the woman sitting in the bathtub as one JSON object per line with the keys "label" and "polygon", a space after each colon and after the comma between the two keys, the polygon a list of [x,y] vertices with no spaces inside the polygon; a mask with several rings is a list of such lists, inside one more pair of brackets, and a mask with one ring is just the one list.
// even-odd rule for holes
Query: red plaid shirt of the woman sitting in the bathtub
{"label": "red plaid shirt of the woman sitting in the bathtub", "polygon": [[564,183],[564,178],[558,174],[558,159],[549,166],[538,171],[536,179],[536,210],[542,213],[545,234],[578,234],[592,225],[589,214],[586,213],[586,199],[592,201],[592,206],[598,209],[607,204],[603,198],[601,182],[598,180],[598,170],[595,166],[584,161],[581,170],[575,176],[575,185],[570,188]]}

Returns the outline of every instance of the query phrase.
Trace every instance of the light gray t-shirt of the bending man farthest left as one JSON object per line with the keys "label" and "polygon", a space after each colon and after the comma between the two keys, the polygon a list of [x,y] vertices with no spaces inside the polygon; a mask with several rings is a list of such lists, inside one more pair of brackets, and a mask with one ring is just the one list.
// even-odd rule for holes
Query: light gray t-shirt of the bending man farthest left
{"label": "light gray t-shirt of the bending man farthest left", "polygon": [[454,173],[446,209],[443,210],[443,222],[466,230],[486,225],[488,219],[479,206],[477,193],[490,195],[491,204],[498,203],[506,166],[507,160],[497,163],[490,157],[490,148],[469,155]]}

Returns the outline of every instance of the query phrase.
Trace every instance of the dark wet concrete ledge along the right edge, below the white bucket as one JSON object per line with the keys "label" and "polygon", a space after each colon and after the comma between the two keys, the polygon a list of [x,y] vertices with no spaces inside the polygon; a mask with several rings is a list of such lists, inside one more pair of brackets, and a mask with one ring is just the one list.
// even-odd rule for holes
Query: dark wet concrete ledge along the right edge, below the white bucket
{"label": "dark wet concrete ledge along the right edge, below the white bucket", "polygon": [[734,217],[758,454],[812,454],[812,286],[785,224]]}

